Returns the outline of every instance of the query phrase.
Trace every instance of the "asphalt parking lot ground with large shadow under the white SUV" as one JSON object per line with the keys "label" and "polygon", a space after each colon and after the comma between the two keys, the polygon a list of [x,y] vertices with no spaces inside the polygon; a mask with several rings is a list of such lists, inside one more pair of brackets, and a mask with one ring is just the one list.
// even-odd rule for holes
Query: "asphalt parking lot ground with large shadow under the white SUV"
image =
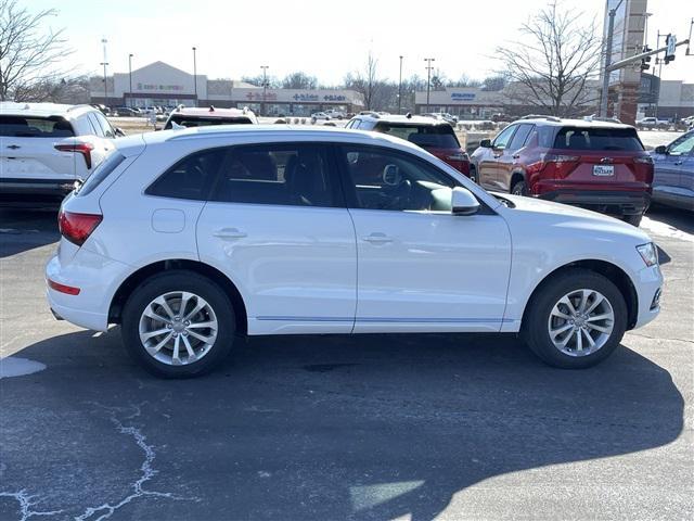
{"label": "asphalt parking lot ground with large shadow under the white SUV", "polygon": [[42,368],[2,368],[0,519],[692,519],[694,217],[642,226],[663,314],[590,370],[514,336],[279,336],[163,381],[49,313],[54,212],[0,211],[0,355]]}

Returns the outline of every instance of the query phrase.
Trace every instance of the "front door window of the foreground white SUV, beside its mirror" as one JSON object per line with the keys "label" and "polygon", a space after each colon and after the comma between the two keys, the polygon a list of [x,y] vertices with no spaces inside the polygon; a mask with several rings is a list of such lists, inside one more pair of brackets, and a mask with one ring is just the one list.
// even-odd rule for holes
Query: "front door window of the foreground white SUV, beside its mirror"
{"label": "front door window of the foreground white SUV, beside its mirror", "polygon": [[419,157],[373,147],[342,147],[357,206],[389,211],[451,209],[458,182]]}

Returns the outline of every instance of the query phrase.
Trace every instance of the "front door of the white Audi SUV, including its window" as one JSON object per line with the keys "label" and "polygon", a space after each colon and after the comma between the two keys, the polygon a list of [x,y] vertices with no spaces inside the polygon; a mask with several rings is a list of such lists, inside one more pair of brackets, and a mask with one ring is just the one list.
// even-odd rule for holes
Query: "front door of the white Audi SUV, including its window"
{"label": "front door of the white Audi SUV, including its window", "polygon": [[499,331],[511,267],[505,221],[450,212],[460,182],[389,149],[338,154],[358,250],[355,332]]}

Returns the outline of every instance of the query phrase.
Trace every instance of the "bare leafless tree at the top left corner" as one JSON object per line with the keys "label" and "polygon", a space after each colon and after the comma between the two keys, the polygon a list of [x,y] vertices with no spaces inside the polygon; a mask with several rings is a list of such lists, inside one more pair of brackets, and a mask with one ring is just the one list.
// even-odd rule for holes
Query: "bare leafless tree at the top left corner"
{"label": "bare leafless tree at the top left corner", "polygon": [[63,29],[47,26],[55,14],[53,9],[31,13],[17,0],[0,0],[0,100],[31,99],[39,85],[64,74],[56,66],[69,53]]}

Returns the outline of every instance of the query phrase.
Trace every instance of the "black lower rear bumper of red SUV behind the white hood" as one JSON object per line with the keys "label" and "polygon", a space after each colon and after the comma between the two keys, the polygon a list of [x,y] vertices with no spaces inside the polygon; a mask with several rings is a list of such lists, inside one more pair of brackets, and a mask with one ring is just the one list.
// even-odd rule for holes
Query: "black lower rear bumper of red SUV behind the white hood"
{"label": "black lower rear bumper of red SUV behind the white hood", "polygon": [[563,188],[538,195],[555,203],[570,204],[601,214],[641,215],[651,204],[651,194],[645,191],[573,190]]}

